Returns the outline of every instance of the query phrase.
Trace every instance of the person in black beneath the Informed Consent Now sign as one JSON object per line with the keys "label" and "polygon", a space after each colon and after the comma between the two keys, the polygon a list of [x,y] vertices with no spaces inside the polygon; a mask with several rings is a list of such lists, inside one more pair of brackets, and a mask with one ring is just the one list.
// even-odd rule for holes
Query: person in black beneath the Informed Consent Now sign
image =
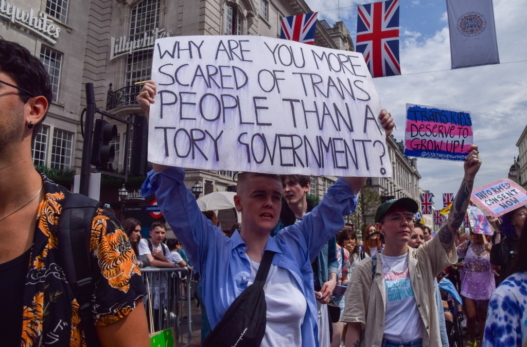
{"label": "person in black beneath the Informed Consent Now sign", "polygon": [[518,253],[516,243],[520,239],[526,219],[527,207],[525,206],[518,207],[518,209],[506,213],[503,216],[503,224],[510,224],[512,229],[514,229],[514,233],[507,237],[504,233],[501,233],[502,225],[500,224],[500,220],[496,217],[489,216],[489,222],[495,232],[492,236],[491,264],[500,266],[500,277],[496,286],[511,275],[511,265],[516,253]]}

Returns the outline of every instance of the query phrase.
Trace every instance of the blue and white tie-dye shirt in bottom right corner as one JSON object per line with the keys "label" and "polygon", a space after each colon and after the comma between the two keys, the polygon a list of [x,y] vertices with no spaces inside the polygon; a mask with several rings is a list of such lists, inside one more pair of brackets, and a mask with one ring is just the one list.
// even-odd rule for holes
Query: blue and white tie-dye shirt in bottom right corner
{"label": "blue and white tie-dye shirt in bottom right corner", "polygon": [[492,293],[483,347],[527,347],[527,272],[516,272]]}

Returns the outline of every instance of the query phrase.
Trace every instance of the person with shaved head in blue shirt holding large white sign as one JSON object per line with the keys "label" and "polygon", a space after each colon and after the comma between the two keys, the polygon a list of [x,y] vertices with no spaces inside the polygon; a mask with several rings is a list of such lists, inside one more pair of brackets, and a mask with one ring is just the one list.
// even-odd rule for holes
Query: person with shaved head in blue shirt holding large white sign
{"label": "person with shaved head in blue shirt holding large white sign", "polygon": [[[155,84],[148,81],[137,98],[147,115],[155,91]],[[383,110],[379,120],[389,135],[394,127],[391,115]],[[281,210],[280,177],[240,173],[234,200],[243,227],[229,239],[200,212],[196,199],[183,183],[182,168],[158,164],[153,167],[143,184],[143,195],[155,194],[160,210],[201,274],[212,333],[231,303],[255,280],[264,251],[272,251],[275,254],[265,289],[265,335],[253,345],[318,346],[311,260],[344,226],[342,216],[355,209],[365,177],[338,179],[301,222],[271,237]],[[247,343],[245,338],[241,341]]]}

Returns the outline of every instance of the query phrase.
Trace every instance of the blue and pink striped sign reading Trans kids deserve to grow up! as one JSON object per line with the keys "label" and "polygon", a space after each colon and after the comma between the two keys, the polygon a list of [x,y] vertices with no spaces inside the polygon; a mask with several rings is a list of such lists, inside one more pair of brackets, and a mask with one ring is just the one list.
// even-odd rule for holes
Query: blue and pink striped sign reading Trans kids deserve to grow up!
{"label": "blue and pink striped sign reading Trans kids deserve to grow up!", "polygon": [[473,144],[470,112],[406,104],[404,155],[464,161]]}

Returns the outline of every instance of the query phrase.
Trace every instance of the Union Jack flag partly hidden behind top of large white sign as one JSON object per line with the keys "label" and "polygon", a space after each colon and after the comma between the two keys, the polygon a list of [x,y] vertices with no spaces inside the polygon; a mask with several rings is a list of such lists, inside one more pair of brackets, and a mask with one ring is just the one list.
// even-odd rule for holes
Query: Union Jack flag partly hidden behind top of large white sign
{"label": "Union Jack flag partly hidden behind top of large white sign", "polygon": [[280,38],[315,44],[315,30],[317,27],[318,12],[299,14],[282,18]]}

